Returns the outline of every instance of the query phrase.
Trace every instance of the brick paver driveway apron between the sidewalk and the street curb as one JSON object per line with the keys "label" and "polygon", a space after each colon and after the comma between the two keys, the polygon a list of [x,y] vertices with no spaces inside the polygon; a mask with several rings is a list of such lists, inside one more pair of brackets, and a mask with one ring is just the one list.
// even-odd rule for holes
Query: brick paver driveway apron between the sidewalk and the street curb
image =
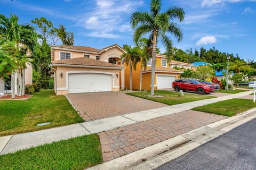
{"label": "brick paver driveway apron between the sidewalk and the street curb", "polygon": [[103,162],[222,120],[226,116],[184,111],[98,133]]}

